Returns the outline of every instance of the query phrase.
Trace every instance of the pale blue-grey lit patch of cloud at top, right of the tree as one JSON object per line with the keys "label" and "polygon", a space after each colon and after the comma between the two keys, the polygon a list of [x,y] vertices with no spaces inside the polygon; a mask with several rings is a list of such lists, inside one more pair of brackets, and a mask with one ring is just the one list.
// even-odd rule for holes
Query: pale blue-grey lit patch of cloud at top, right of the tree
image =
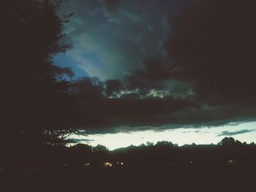
{"label": "pale blue-grey lit patch of cloud at top, right of the tree", "polygon": [[166,59],[163,42],[170,29],[166,21],[184,4],[189,0],[66,0],[60,14],[74,13],[64,26],[66,42],[72,44],[66,56],[101,80],[141,69],[148,58]]}

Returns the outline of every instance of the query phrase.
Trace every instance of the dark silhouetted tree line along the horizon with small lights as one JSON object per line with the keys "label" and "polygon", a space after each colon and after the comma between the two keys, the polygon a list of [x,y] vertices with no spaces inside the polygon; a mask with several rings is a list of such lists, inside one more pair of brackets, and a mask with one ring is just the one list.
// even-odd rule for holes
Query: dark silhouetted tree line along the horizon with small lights
{"label": "dark silhouetted tree line along the horizon with small lights", "polygon": [[76,144],[40,145],[10,164],[1,158],[1,169],[10,170],[59,170],[59,169],[126,169],[126,168],[172,168],[176,166],[256,166],[256,145],[246,144],[233,137],[225,137],[217,145],[174,145],[162,141],[155,145],[129,146],[108,150],[103,145],[92,147]]}

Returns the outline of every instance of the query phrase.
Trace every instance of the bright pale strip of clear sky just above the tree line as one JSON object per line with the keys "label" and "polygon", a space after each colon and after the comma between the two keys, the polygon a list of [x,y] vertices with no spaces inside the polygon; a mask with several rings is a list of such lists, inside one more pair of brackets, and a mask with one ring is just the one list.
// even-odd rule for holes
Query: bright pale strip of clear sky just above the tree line
{"label": "bright pale strip of clear sky just above the tree line", "polygon": [[[247,130],[245,133],[228,135],[222,134],[222,131],[236,132]],[[255,142],[256,141],[256,121],[239,124],[228,124],[225,126],[202,127],[202,128],[173,128],[161,131],[133,131],[129,133],[116,134],[89,134],[86,136],[78,136],[72,134],[68,139],[87,139],[88,141],[81,141],[79,143],[96,146],[105,145],[109,150],[115,150],[120,147],[128,147],[130,145],[141,145],[146,142],[159,141],[173,142],[173,144],[191,145],[199,144],[217,144],[224,137],[233,137],[241,142]]]}

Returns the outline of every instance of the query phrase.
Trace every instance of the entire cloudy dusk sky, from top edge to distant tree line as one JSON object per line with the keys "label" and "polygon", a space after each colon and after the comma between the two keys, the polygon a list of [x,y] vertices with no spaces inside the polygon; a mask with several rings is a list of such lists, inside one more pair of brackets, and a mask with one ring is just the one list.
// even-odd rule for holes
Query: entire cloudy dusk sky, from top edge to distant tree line
{"label": "entire cloudy dusk sky, from top edge to distant tree line", "polygon": [[[250,0],[65,0],[59,15],[74,15],[64,25],[61,44],[70,47],[53,62],[72,69],[69,78],[80,90],[69,109],[73,126],[89,134],[91,145],[101,142],[111,149],[114,141],[119,147],[146,142],[141,137],[180,145],[233,135],[252,142],[254,5]],[[209,133],[202,134],[203,128]]]}

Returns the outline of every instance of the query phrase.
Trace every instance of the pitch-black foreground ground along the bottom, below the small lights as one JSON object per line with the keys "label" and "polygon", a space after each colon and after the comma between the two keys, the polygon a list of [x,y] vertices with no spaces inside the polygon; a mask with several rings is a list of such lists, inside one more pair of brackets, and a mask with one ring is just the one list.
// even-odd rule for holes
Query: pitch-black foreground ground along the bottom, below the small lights
{"label": "pitch-black foreground ground along the bottom, below the small lights", "polygon": [[13,191],[256,191],[255,171],[250,166],[176,166],[4,172],[0,184]]}

